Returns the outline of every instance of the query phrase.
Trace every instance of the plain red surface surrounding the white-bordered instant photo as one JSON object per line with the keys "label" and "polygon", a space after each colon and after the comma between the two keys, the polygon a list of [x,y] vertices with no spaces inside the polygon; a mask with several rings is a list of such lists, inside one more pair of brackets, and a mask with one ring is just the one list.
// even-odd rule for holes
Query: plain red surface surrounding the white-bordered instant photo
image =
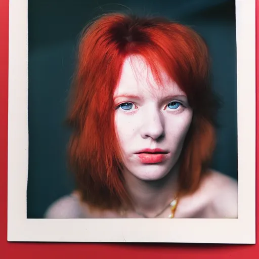
{"label": "plain red surface surrounding the white-bordered instant photo", "polygon": [[[259,0],[256,0],[259,13]],[[258,15],[259,16],[259,15]],[[90,243],[11,243],[7,242],[7,134],[8,134],[8,22],[9,0],[0,1],[0,257],[1,258],[255,258],[259,245],[202,244],[90,244]],[[256,17],[256,49],[259,48],[259,17]],[[259,136],[259,51],[256,50],[256,136]],[[256,172],[258,172],[259,141],[256,139]],[[258,180],[256,178],[256,186]],[[258,220],[256,190],[256,222]],[[259,227],[256,224],[256,240]],[[4,255],[4,257],[2,257]]]}

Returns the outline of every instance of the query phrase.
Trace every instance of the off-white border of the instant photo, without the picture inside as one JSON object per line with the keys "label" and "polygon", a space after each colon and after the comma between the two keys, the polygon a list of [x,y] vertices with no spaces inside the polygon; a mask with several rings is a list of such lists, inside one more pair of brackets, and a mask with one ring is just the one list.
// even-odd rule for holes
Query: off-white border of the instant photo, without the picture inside
{"label": "off-white border of the instant photo, without the picture inside", "polygon": [[255,0],[236,0],[238,219],[27,219],[27,0],[9,9],[8,241],[255,243]]}

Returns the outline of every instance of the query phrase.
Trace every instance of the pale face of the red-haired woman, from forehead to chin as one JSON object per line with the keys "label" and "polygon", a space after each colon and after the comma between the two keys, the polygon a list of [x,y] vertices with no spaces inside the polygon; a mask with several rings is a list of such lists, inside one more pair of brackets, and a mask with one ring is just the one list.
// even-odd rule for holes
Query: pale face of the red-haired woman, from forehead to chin
{"label": "pale face of the red-haired woman, from forehead to chin", "polygon": [[142,180],[158,180],[176,164],[192,109],[176,82],[161,73],[158,85],[140,57],[123,64],[114,93],[115,129],[125,170]]}

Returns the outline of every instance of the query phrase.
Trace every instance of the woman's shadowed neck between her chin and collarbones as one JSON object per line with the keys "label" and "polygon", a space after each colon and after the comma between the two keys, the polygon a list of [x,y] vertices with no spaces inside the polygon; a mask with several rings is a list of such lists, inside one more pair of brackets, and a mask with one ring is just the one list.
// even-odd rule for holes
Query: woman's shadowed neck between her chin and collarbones
{"label": "woman's shadowed neck between her chin and collarbones", "polygon": [[153,218],[162,212],[177,195],[178,168],[171,169],[162,179],[144,181],[131,172],[124,171],[128,193],[133,200],[134,211]]}

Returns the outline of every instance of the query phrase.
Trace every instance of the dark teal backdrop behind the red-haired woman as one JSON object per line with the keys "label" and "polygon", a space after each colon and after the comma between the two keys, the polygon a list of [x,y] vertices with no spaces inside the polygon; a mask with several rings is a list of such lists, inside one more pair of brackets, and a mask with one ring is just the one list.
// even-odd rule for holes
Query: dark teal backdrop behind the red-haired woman
{"label": "dark teal backdrop behind the red-haired woman", "polygon": [[[27,217],[74,188],[66,165],[64,127],[75,47],[82,28],[109,11],[130,8],[187,24],[206,40],[213,88],[223,100],[213,168],[237,179],[235,1],[226,0],[29,0],[29,171]],[[17,129],[19,130],[19,129]]]}

